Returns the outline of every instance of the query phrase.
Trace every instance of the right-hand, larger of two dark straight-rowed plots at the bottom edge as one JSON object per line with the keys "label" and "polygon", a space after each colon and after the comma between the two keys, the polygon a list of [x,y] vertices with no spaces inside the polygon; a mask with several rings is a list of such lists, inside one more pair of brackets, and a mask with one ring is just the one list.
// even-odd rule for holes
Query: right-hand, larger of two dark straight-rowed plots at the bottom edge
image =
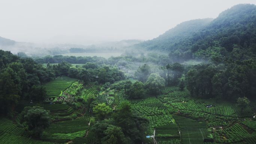
{"label": "right-hand, larger of two dark straight-rowed plots at the bottom edge", "polygon": [[206,123],[181,116],[174,116],[174,119],[181,130],[182,144],[204,144],[205,139],[210,139]]}

